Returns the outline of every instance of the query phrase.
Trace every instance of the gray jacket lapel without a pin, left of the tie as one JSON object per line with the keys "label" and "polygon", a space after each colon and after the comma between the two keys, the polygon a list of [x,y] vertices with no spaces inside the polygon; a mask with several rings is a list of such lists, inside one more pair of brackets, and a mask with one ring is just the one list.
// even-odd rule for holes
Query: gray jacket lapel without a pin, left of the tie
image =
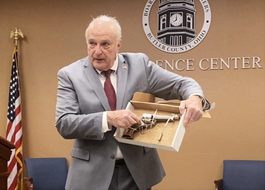
{"label": "gray jacket lapel without a pin, left of the tie", "polygon": [[90,64],[89,62],[89,58],[87,57],[85,63],[85,69],[84,69],[84,73],[91,85],[91,87],[93,88],[95,94],[97,95],[99,101],[101,102],[102,106],[104,107],[104,109],[106,111],[110,111],[110,105],[107,99],[107,96],[105,94],[105,91],[103,89],[103,86],[100,82],[99,76],[97,74],[97,71],[95,70],[95,68]]}

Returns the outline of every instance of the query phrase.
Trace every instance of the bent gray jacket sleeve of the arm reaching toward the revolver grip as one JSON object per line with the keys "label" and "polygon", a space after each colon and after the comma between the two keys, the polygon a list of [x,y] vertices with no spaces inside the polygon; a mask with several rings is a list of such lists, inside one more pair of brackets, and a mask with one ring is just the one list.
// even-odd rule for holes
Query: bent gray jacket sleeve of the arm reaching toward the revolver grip
{"label": "bent gray jacket sleeve of the arm reaching toward the revolver grip", "polygon": [[65,139],[102,140],[103,112],[81,114],[74,85],[61,69],[58,71],[55,126]]}

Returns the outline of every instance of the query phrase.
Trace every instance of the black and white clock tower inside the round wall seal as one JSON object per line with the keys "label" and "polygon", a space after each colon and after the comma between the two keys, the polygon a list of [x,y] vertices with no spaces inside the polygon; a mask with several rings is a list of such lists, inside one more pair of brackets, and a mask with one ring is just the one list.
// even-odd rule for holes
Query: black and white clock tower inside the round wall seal
{"label": "black and white clock tower inside the round wall seal", "polygon": [[156,38],[172,46],[193,40],[195,12],[193,0],[159,0]]}

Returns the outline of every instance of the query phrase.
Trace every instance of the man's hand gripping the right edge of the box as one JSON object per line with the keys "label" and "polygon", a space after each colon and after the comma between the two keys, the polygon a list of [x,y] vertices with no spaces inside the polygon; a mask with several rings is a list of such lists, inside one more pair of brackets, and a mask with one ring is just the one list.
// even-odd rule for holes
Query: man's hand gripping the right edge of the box
{"label": "man's hand gripping the right edge of the box", "polygon": [[187,109],[183,122],[186,129],[189,127],[191,122],[198,121],[201,118],[203,113],[201,102],[201,98],[197,95],[191,96],[189,99],[180,102],[180,114],[183,114],[184,110]]}

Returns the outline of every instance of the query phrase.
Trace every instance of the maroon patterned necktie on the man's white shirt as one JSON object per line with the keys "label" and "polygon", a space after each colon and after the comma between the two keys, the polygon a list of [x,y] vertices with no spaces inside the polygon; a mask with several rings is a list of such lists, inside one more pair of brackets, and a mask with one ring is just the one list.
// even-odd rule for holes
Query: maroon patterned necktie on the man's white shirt
{"label": "maroon patterned necktie on the man's white shirt", "polygon": [[108,98],[110,109],[112,111],[115,111],[116,110],[116,93],[110,81],[110,74],[112,73],[112,70],[109,69],[107,71],[102,71],[101,73],[106,76],[106,80],[104,82],[104,91]]}

